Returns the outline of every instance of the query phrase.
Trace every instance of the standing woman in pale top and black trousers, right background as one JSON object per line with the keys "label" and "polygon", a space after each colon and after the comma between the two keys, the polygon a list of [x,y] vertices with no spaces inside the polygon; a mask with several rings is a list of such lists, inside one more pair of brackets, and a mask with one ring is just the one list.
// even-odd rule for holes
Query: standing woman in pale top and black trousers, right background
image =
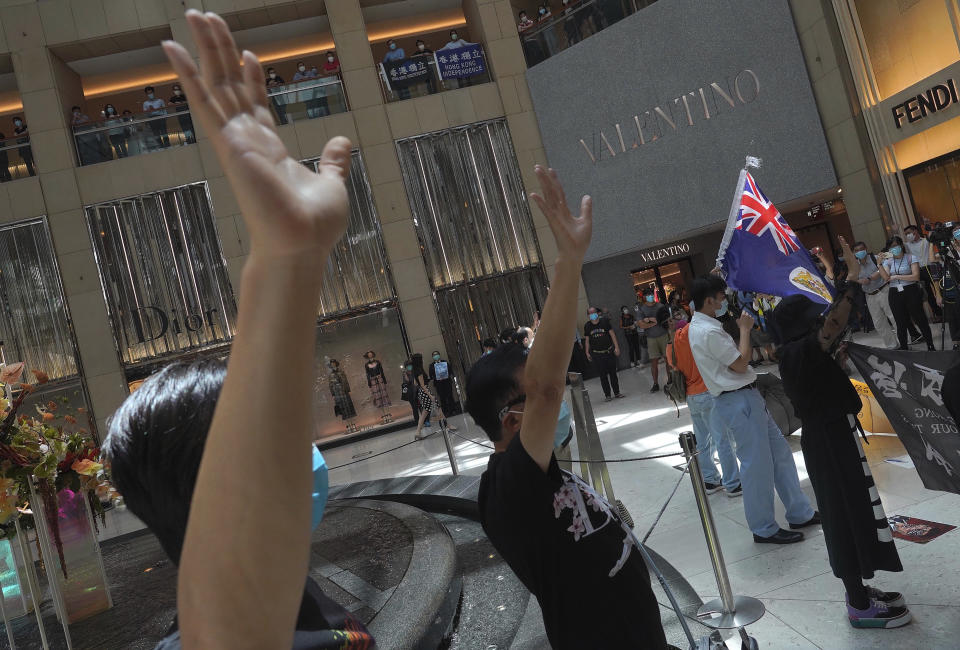
{"label": "standing woman in pale top and black trousers, right background", "polygon": [[903,240],[894,235],[887,242],[889,251],[880,265],[880,275],[890,285],[888,299],[893,318],[897,322],[898,350],[907,350],[907,329],[910,321],[916,323],[927,344],[933,350],[933,333],[923,311],[923,292],[920,290],[920,261],[908,253]]}

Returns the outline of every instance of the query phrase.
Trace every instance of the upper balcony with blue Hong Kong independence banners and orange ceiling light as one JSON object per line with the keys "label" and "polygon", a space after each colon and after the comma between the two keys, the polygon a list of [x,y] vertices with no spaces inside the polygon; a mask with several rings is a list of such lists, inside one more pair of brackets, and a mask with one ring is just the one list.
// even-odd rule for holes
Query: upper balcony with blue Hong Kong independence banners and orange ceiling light
{"label": "upper balcony with blue Hong Kong independence banners and orange ceiling light", "polygon": [[411,3],[365,7],[370,47],[384,101],[426,97],[491,81],[482,43],[471,38],[459,2],[430,14]]}

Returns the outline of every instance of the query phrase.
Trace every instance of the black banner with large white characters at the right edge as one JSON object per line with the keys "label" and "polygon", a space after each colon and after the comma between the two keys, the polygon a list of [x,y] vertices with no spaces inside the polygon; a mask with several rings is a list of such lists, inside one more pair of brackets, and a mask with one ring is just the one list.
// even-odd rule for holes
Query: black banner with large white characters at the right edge
{"label": "black banner with large white characters at the right edge", "polygon": [[856,343],[847,351],[913,459],[924,487],[960,494],[960,433],[940,393],[958,355]]}

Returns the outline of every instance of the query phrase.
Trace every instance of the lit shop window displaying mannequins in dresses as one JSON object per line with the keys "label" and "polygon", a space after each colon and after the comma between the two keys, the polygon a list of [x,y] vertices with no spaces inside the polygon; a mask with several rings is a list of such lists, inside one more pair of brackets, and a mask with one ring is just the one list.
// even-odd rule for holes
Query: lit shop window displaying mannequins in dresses
{"label": "lit shop window displaying mannequins in dresses", "polygon": [[[370,350],[383,369],[389,405],[368,385],[364,354]],[[358,429],[378,427],[384,423],[386,414],[394,422],[412,420],[410,404],[400,399],[406,358],[407,345],[395,305],[321,323],[317,327],[314,437],[347,433],[348,423]],[[339,364],[346,382],[343,378],[334,378],[331,382],[331,361]]]}

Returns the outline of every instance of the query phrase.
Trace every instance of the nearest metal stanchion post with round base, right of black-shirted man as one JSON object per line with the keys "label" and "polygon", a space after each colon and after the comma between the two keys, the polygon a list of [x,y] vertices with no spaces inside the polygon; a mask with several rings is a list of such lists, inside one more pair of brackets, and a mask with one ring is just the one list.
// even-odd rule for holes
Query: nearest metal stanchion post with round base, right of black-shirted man
{"label": "nearest metal stanchion post with round base, right of black-shirted man", "polygon": [[680,434],[680,447],[683,449],[683,455],[690,469],[690,482],[693,484],[693,495],[697,501],[697,510],[700,512],[700,523],[703,525],[703,534],[707,541],[707,552],[710,554],[710,564],[713,565],[713,573],[720,590],[720,598],[705,603],[697,616],[707,627],[722,630],[742,628],[760,620],[766,608],[756,598],[733,594],[730,578],[727,575],[727,566],[723,561],[720,537],[717,535],[717,526],[713,521],[713,512],[707,500],[707,490],[703,485],[703,475],[700,473],[697,441],[691,432],[685,431]]}

